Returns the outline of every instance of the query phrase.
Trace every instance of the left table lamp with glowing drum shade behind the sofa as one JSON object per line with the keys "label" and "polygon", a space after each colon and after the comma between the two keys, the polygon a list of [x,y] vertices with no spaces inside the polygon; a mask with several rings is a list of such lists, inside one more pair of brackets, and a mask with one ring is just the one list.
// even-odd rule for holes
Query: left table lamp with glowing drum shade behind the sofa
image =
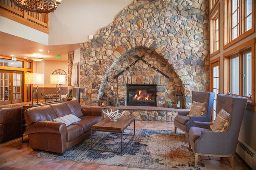
{"label": "left table lamp with glowing drum shade behind the sofa", "polygon": [[[34,86],[34,84],[44,84],[44,74],[25,73],[25,84],[33,84],[32,104],[29,105],[40,105],[38,103],[38,86]],[[36,104],[34,104],[34,95],[36,95]]]}

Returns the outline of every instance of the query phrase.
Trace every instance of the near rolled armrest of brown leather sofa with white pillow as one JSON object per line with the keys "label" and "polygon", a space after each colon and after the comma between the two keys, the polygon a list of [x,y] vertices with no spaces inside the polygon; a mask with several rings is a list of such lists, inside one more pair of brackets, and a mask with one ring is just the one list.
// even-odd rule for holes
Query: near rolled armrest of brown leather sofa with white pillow
{"label": "near rolled armrest of brown leather sofa with white pillow", "polygon": [[67,127],[65,123],[55,121],[38,121],[26,127],[26,132],[31,133],[55,133],[66,134]]}

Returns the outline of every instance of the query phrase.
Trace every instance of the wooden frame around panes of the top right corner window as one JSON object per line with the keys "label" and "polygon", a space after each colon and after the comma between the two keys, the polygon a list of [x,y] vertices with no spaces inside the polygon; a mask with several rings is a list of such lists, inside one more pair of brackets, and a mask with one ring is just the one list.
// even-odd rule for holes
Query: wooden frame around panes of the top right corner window
{"label": "wooden frame around panes of the top right corner window", "polygon": [[252,0],[252,28],[246,31],[246,0],[240,1],[239,3],[239,31],[238,36],[235,39],[232,39],[232,0],[224,0],[223,6],[223,16],[224,17],[224,49],[230,47],[231,45],[237,43],[241,39],[244,39],[248,35],[254,33],[255,27],[255,0]]}

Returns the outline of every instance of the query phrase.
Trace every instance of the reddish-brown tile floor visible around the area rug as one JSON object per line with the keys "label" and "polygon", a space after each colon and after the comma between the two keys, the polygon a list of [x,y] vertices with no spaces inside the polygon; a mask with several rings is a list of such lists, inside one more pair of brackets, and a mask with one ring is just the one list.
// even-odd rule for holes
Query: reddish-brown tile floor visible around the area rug
{"label": "reddish-brown tile floor visible around the area rug", "polygon": [[[136,129],[164,129],[174,131],[174,123],[136,121]],[[0,145],[1,170],[140,170],[121,166],[107,166],[82,162],[36,158],[28,143],[21,138]],[[226,158],[202,157],[207,170],[250,170],[250,167],[236,156],[235,168],[232,169]]]}

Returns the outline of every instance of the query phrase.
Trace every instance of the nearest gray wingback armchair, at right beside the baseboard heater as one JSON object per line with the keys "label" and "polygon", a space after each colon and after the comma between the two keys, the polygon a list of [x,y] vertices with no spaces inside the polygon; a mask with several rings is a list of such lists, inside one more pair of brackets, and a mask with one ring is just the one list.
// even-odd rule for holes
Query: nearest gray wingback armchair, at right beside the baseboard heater
{"label": "nearest gray wingback armchair, at right beside the baseboard heater", "polygon": [[[221,130],[216,130],[212,122],[194,122],[194,127],[189,130],[188,141],[189,150],[192,147],[195,152],[195,167],[197,167],[198,156],[202,155],[228,157],[234,168],[234,153],[246,104],[247,98],[217,94],[216,113],[218,114],[214,123],[217,124],[217,129]],[[216,123],[218,117],[222,117],[218,119],[220,121],[225,119],[222,109],[228,115],[226,123],[223,124],[224,129],[221,123]]]}

